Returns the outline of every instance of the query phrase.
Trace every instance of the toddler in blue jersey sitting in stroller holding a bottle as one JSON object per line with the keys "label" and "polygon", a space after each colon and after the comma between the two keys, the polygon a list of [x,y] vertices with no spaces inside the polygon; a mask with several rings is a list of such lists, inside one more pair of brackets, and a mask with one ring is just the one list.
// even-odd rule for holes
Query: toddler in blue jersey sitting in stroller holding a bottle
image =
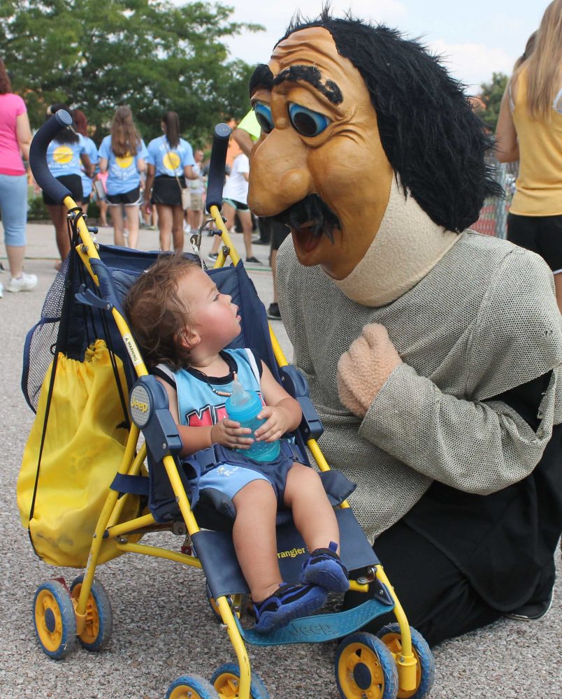
{"label": "toddler in blue jersey sitting in stroller holding a bottle", "polygon": [[[233,380],[261,391],[266,419],[255,435],[273,442],[296,429],[298,401],[275,380],[252,350],[226,349],[240,333],[238,306],[218,291],[194,261],[161,257],[131,287],[125,312],[147,366],[168,394],[170,411],[182,439],[180,456],[222,445],[224,461],[199,478],[199,491],[215,489],[231,500],[236,517],[233,544],[250,587],[255,629],[270,632],[305,617],[326,603],[328,591],[350,584],[338,556],[339,529],[322,481],[312,468],[296,463],[283,440],[271,462],[254,461],[234,449],[249,449],[249,428],[224,417]],[[275,540],[278,503],[289,507],[311,552],[301,584],[285,584]]]}

